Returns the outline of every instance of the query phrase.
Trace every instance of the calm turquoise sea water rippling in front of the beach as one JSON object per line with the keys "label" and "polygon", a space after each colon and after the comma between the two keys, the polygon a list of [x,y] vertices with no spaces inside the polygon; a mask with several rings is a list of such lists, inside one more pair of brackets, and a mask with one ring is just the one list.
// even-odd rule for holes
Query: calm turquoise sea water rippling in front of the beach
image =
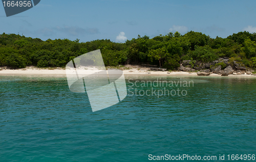
{"label": "calm turquoise sea water rippling in front of the beach", "polygon": [[[71,92],[65,77],[0,76],[0,161],[149,161],[149,154],[218,157],[208,161],[225,154],[227,161],[228,154],[256,154],[256,79],[126,79],[123,101],[92,112],[87,95]],[[184,96],[152,92],[176,85],[141,86],[157,79],[194,86],[179,86]]]}

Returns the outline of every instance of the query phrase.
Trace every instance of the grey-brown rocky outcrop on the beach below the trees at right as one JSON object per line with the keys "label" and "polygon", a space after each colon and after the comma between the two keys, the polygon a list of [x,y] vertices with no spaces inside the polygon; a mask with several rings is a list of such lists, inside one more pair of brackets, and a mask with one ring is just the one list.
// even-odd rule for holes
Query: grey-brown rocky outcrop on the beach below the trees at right
{"label": "grey-brown rocky outcrop on the beach below the trees at right", "polygon": [[240,61],[230,60],[227,57],[219,58],[218,60],[202,63],[200,61],[183,60],[178,70],[183,72],[197,72],[198,76],[208,76],[211,73],[219,74],[221,76],[228,76],[235,73],[236,75],[252,75],[252,70]]}

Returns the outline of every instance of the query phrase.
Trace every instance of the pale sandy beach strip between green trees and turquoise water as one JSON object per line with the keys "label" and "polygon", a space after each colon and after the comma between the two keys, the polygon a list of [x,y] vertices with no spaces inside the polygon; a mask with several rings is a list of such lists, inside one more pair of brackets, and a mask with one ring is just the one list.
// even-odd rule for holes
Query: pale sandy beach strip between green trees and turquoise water
{"label": "pale sandy beach strip between green trees and turquoise water", "polygon": [[[195,77],[198,76],[197,73],[188,72],[161,72],[161,71],[148,71],[148,68],[129,68],[128,70],[123,70],[125,76],[130,75],[143,75],[143,76],[186,76]],[[49,70],[48,68],[37,68],[37,67],[26,67],[18,70],[9,70],[2,67],[0,71],[0,76],[15,76],[15,75],[39,75],[39,76],[66,76],[66,70],[64,68],[55,68]],[[225,77],[218,74],[211,74],[210,76],[198,76],[198,77]],[[227,77],[232,78],[255,78],[252,75],[228,75]]]}

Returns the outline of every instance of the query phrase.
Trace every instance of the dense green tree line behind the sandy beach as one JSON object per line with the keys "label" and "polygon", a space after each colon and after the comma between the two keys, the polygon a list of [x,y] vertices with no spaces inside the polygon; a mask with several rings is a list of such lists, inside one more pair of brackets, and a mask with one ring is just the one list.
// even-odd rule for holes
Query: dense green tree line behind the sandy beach
{"label": "dense green tree line behind the sandy beach", "polygon": [[190,31],[148,36],[116,43],[108,39],[79,42],[79,39],[31,38],[16,34],[0,34],[0,66],[24,68],[65,67],[73,58],[84,53],[101,50],[106,66],[118,64],[156,64],[175,69],[182,60],[209,62],[220,57],[242,61],[245,66],[256,65],[256,34],[239,32],[227,38],[210,38],[205,34]]}

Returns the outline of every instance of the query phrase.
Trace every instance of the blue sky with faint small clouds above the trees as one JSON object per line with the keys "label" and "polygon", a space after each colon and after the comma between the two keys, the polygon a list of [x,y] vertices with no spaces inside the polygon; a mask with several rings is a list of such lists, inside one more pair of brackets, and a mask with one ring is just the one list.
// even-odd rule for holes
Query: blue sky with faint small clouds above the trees
{"label": "blue sky with faint small clouds above the trees", "polygon": [[0,5],[0,33],[80,42],[125,39],[192,30],[212,38],[256,32],[256,1],[41,0],[34,8],[6,17]]}

